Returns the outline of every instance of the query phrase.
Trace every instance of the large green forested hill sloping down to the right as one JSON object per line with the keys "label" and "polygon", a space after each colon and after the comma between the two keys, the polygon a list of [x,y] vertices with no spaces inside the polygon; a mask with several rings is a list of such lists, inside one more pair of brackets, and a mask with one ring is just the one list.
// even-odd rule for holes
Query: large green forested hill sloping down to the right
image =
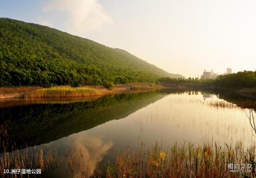
{"label": "large green forested hill sloping down to the right", "polygon": [[136,56],[89,39],[0,18],[0,86],[154,83],[170,74]]}

